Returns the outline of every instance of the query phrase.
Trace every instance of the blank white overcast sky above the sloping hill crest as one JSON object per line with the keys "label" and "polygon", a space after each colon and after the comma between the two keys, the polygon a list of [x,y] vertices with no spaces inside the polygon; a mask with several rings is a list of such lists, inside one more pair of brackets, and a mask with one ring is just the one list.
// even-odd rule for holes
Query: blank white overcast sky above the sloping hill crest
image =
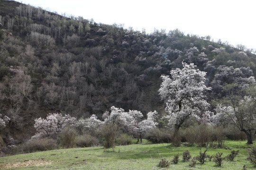
{"label": "blank white overcast sky above the sloping hill crest", "polygon": [[256,0],[17,0],[58,14],[93,18],[125,28],[178,28],[185,34],[210,35],[256,49]]}

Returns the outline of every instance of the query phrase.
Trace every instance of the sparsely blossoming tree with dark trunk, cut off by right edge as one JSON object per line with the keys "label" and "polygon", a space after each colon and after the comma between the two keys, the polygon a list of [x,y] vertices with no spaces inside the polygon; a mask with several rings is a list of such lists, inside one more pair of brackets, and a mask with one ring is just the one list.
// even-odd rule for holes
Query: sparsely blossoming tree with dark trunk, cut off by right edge
{"label": "sparsely blossoming tree with dark trunk, cut off by right edge", "polygon": [[253,144],[253,135],[256,132],[256,86],[251,85],[236,94],[232,93],[236,84],[228,86],[229,96],[220,100],[216,106],[216,115],[212,117],[213,123],[234,125],[246,134],[247,144]]}

